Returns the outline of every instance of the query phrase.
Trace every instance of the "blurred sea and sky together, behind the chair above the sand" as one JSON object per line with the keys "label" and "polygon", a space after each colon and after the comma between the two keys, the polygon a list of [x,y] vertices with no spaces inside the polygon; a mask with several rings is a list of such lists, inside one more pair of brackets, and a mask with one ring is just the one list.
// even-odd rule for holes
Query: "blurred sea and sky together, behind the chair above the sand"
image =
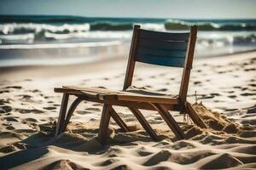
{"label": "blurred sea and sky together, behind the chair above the sand", "polygon": [[134,25],[199,26],[195,57],[249,51],[256,48],[255,8],[251,0],[2,0],[0,69],[127,56]]}

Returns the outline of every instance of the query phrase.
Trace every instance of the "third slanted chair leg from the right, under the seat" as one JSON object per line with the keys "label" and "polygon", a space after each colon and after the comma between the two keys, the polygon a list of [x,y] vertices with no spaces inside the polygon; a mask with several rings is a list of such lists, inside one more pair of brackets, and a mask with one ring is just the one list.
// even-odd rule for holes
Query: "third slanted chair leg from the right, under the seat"
{"label": "third slanted chair leg from the right, under the seat", "polygon": [[134,116],[137,117],[138,122],[141,123],[141,125],[143,126],[145,131],[149,134],[151,139],[159,140],[159,137],[157,136],[156,133],[154,133],[153,128],[148,124],[148,122],[145,119],[145,117],[143,116],[143,114],[138,109],[136,109],[136,108],[129,107],[129,109],[134,114]]}

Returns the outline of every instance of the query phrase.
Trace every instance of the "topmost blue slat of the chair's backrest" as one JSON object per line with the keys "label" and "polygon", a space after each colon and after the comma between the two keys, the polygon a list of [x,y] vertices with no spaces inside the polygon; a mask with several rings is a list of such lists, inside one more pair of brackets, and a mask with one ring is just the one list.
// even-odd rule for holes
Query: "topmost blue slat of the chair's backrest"
{"label": "topmost blue slat of the chair's backrest", "polygon": [[173,40],[173,41],[188,41],[189,32],[160,32],[160,31],[148,31],[140,29],[140,36],[142,38],[150,38],[154,40]]}

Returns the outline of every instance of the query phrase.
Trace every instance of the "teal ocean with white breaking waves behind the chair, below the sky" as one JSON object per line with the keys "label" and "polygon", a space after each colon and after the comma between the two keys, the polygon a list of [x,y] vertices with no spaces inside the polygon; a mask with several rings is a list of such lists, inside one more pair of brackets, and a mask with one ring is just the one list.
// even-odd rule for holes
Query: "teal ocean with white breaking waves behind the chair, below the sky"
{"label": "teal ocean with white breaking waves behind the chair, below the sky", "polygon": [[183,20],[0,15],[0,67],[70,65],[129,54],[132,27],[199,28],[195,57],[256,49],[256,20]]}

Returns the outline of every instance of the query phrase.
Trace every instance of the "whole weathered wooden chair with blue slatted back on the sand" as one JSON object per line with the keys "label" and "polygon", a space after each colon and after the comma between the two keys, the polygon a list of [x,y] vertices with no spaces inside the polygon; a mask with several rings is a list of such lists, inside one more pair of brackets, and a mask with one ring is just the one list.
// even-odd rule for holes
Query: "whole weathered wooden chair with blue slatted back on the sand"
{"label": "whole weathered wooden chair with blue slatted back on the sand", "polygon": [[[113,110],[113,105],[128,107],[154,140],[157,140],[158,136],[154,133],[153,128],[148,124],[140,110],[158,111],[178,139],[184,139],[185,135],[169,111],[180,111],[182,114],[187,113],[196,125],[205,128],[206,125],[201,121],[201,118],[195,113],[192,105],[186,99],[189,75],[194,57],[196,33],[196,26],[191,26],[190,32],[185,33],[148,31],[140,29],[140,26],[134,26],[123,90],[110,91],[105,88],[86,88],[80,86],[55,88],[56,93],[63,93],[55,135],[65,131],[73,111],[83,100],[104,104],[98,133],[98,139],[102,144],[108,138],[110,117],[113,118],[123,132],[130,131],[125,122]],[[183,76],[177,97],[131,88],[133,72],[137,61],[153,65],[182,67]],[[77,99],[73,101],[67,111],[67,102],[70,95],[77,96]]]}

